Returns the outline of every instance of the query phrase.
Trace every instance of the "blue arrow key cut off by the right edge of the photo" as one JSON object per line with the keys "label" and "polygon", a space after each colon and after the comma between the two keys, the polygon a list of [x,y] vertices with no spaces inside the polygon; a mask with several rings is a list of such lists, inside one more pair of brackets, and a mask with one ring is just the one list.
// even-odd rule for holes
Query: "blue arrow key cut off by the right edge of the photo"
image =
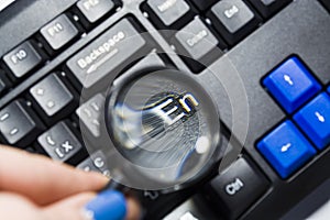
{"label": "blue arrow key cut off by the right edge of the photo", "polygon": [[294,116],[300,129],[322,150],[330,144],[330,97],[323,92]]}

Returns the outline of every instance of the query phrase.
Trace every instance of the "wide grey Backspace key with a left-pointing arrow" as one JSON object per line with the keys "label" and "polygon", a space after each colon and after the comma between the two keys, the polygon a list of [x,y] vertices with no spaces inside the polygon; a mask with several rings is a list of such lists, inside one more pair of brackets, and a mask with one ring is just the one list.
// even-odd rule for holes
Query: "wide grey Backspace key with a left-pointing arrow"
{"label": "wide grey Backspace key with a left-pointing arrow", "polygon": [[129,21],[123,19],[82,48],[66,64],[84,88],[100,80],[109,85],[118,73],[135,58],[142,57],[146,41]]}

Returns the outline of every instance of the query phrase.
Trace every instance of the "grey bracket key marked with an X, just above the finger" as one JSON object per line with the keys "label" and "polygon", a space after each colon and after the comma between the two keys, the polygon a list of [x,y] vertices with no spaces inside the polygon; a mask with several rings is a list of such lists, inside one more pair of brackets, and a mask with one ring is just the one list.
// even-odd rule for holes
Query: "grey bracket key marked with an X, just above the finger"
{"label": "grey bracket key marked with an X, just above the finger", "polygon": [[37,138],[43,150],[53,158],[61,162],[70,161],[82,146],[66,122],[58,122]]}

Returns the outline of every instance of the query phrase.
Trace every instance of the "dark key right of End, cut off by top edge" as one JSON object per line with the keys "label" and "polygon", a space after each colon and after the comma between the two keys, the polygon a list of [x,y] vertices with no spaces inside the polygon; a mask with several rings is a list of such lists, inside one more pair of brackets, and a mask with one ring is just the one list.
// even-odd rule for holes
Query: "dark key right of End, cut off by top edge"
{"label": "dark key right of End, cut off by top edge", "polygon": [[267,19],[278,12],[292,0],[250,0],[263,18]]}

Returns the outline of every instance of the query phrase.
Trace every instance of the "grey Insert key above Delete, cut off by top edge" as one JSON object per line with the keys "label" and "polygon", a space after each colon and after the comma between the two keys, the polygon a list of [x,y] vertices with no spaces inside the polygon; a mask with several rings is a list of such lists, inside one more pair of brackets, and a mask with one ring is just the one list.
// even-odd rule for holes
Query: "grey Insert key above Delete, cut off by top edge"
{"label": "grey Insert key above Delete, cut off by top edge", "polygon": [[152,21],[160,29],[178,29],[194,16],[185,0],[148,0],[146,7]]}

